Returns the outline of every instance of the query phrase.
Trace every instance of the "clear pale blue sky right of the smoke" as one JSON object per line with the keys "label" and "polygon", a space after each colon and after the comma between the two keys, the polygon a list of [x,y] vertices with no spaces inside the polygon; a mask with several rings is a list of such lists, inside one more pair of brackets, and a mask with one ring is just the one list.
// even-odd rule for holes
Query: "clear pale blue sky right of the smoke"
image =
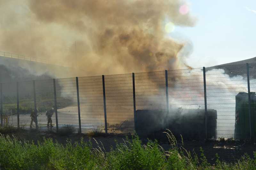
{"label": "clear pale blue sky right of the smoke", "polygon": [[[188,0],[195,27],[175,27],[169,35],[191,42],[193,67],[256,57],[256,0]],[[254,11],[255,10],[255,11]]]}

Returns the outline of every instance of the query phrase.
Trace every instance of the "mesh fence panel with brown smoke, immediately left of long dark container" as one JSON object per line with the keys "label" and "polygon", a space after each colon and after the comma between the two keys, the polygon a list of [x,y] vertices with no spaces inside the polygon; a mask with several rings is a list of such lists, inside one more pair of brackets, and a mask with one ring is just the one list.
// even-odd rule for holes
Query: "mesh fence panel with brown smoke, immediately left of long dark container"
{"label": "mesh fence panel with brown smoke, immediately left of long dark container", "polygon": [[132,74],[106,75],[108,133],[134,131]]}

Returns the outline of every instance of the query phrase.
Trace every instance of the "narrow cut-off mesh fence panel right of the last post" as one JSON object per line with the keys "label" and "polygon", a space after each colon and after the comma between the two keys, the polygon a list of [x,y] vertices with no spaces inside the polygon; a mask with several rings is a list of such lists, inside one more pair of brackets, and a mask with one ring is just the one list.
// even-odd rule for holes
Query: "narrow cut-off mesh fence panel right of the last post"
{"label": "narrow cut-off mesh fence panel right of the last post", "polygon": [[249,64],[252,136],[256,137],[256,64]]}

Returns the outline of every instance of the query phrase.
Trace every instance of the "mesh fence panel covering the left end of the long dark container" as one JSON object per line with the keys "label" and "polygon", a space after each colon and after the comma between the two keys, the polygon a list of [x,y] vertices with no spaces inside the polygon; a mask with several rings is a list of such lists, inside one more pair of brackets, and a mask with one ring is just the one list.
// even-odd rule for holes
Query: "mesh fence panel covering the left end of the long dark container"
{"label": "mesh fence panel covering the left end of the long dark container", "polygon": [[135,73],[135,128],[148,136],[166,128],[165,72]]}

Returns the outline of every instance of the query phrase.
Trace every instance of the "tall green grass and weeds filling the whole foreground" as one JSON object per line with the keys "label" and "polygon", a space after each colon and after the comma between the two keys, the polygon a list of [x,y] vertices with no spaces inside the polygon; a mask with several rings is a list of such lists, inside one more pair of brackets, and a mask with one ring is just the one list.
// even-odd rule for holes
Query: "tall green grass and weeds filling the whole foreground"
{"label": "tall green grass and weeds filling the whole foreground", "polygon": [[[52,139],[34,144],[18,141],[15,137],[0,135],[0,169],[255,169],[256,159],[245,155],[233,164],[221,162],[218,155],[215,165],[210,165],[202,151],[195,153],[177,146],[171,132],[166,133],[171,149],[164,151],[157,141],[142,145],[138,136],[126,138],[116,149],[106,152],[103,144],[92,148],[83,138],[75,144],[64,146]],[[256,156],[256,155],[255,155]],[[200,163],[199,163],[200,162]]]}

